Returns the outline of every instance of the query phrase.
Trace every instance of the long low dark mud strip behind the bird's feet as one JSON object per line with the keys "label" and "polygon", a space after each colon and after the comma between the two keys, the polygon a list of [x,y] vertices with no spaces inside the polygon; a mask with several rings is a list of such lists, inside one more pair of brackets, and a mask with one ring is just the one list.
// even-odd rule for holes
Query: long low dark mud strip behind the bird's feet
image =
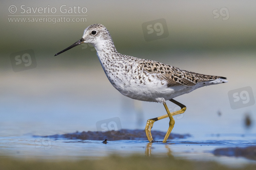
{"label": "long low dark mud strip behind the bird's feet", "polygon": [[[165,132],[161,131],[151,131],[151,134],[154,140],[163,139],[165,137]],[[168,139],[174,138],[187,138],[191,135],[185,134],[173,134],[171,133]],[[104,140],[108,139],[108,141],[113,140],[147,140],[146,134],[144,130],[127,130],[123,129],[120,131],[107,131],[107,132],[75,132],[75,133],[68,133],[63,135],[52,135],[48,136],[50,138],[66,138],[66,139],[81,139],[81,140]]]}

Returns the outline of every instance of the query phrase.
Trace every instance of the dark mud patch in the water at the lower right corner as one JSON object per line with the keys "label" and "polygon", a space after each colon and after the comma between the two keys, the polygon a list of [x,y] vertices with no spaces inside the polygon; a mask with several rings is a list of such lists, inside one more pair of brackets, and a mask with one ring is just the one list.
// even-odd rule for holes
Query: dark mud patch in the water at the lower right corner
{"label": "dark mud patch in the water at the lower right corner", "polygon": [[213,151],[216,156],[242,156],[247,159],[256,160],[256,146],[245,148],[218,148]]}

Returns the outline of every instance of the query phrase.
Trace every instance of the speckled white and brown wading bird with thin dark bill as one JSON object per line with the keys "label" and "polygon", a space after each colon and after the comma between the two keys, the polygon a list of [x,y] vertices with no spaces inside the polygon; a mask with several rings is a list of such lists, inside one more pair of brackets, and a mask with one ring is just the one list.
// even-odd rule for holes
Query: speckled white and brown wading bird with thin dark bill
{"label": "speckled white and brown wading bird with thin dark bill", "polygon": [[[185,112],[186,106],[173,98],[199,87],[227,82],[225,77],[198,74],[160,62],[120,54],[116,51],[109,31],[101,24],[87,27],[80,40],[55,55],[82,43],[90,43],[95,47],[106,76],[121,94],[136,100],[163,103],[167,114],[147,121],[145,132],[150,142],[153,141],[151,128],[155,121],[169,117],[169,129],[163,139],[166,142],[174,126],[172,116]],[[91,83],[94,81],[91,80]],[[170,113],[167,100],[181,109]]]}

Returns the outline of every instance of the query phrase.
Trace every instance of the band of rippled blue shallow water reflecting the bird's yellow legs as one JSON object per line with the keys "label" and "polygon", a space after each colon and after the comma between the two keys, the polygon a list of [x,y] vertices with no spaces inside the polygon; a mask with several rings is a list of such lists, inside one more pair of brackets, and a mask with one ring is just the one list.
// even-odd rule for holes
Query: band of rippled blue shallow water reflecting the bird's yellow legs
{"label": "band of rippled blue shallow water reflecting the bird's yellow legs", "polygon": [[[1,136],[0,153],[16,158],[39,159],[95,159],[112,154],[129,156],[175,156],[192,160],[214,160],[229,166],[242,166],[255,160],[244,157],[214,156],[217,148],[255,146],[256,134],[219,134],[191,136],[183,139],[168,139],[167,143],[147,140],[102,140],[65,139],[26,134],[23,136]],[[103,139],[104,140],[104,139]]]}

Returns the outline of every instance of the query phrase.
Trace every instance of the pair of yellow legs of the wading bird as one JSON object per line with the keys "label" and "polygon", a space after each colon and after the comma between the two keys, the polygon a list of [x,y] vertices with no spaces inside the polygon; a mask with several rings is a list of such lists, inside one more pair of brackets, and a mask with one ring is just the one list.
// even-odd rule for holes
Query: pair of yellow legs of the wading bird
{"label": "pair of yellow legs of the wading bird", "polygon": [[172,116],[178,115],[178,114],[182,114],[182,113],[185,112],[185,110],[186,110],[186,106],[185,105],[183,105],[183,104],[181,104],[181,103],[179,103],[179,102],[177,102],[176,100],[173,100],[173,99],[171,99],[170,101],[173,102],[174,104],[180,106],[181,110],[170,113],[166,103],[163,103],[163,105],[165,106],[167,114],[163,115],[163,116],[159,116],[159,117],[154,118],[154,119],[148,119],[147,120],[147,124],[146,124],[146,127],[145,127],[145,132],[146,132],[146,136],[147,136],[148,141],[150,141],[150,142],[153,141],[153,138],[152,138],[152,135],[151,135],[151,129],[153,127],[154,122],[157,121],[157,120],[161,120],[163,118],[167,118],[169,116],[171,124],[169,123],[169,129],[168,129],[168,131],[167,131],[167,133],[165,135],[165,138],[163,139],[163,142],[166,142],[166,140],[169,137],[169,135],[170,135],[170,133],[172,131],[172,128],[174,126],[174,119],[173,119]]}

